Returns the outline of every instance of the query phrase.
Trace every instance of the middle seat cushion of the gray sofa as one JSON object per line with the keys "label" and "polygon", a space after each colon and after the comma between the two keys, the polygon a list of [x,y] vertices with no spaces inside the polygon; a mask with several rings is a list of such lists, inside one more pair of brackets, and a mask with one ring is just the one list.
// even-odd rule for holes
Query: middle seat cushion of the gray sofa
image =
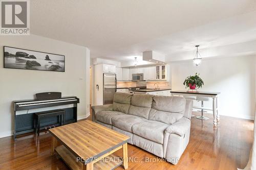
{"label": "middle seat cushion of the gray sofa", "polygon": [[133,125],[137,123],[142,123],[145,121],[147,121],[147,119],[139,116],[122,114],[122,115],[116,115],[112,118],[112,125],[121,130],[124,130],[127,132],[133,132],[132,131]]}

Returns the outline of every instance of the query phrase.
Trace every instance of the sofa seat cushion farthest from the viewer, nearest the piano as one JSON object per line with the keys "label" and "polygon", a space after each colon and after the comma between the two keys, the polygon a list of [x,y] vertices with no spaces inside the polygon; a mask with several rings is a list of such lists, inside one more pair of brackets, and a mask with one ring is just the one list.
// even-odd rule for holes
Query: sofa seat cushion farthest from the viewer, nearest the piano
{"label": "sofa seat cushion farthest from the viewer, nearest the piano", "polygon": [[96,114],[96,120],[105,124],[112,125],[112,117],[120,114],[124,113],[118,111],[100,111]]}

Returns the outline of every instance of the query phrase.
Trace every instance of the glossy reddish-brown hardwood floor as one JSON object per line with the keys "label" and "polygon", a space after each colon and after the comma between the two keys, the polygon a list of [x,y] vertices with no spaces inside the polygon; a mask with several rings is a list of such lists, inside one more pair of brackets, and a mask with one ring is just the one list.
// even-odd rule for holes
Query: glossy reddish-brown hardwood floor
{"label": "glossy reddish-brown hardwood floor", "polygon": [[[199,113],[195,112],[196,115]],[[212,117],[212,115],[207,115]],[[236,169],[243,168],[253,140],[253,121],[221,116],[218,128],[212,118],[202,123],[191,118],[189,144],[177,165],[128,144],[128,169]],[[122,151],[116,152],[122,156]],[[151,162],[148,162],[151,159]],[[157,162],[156,162],[157,161]],[[0,169],[69,169],[61,159],[51,156],[51,135],[40,133],[0,139]],[[118,167],[117,169],[123,169]]]}

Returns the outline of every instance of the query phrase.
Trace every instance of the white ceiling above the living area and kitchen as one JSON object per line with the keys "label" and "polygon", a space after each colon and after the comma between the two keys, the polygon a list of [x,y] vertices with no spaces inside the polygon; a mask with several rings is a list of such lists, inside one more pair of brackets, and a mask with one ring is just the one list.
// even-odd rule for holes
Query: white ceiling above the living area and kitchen
{"label": "white ceiling above the living area and kitchen", "polygon": [[187,59],[181,53],[197,44],[256,40],[254,0],[36,0],[30,6],[31,34],[87,46],[93,58],[125,61],[154,50],[173,61]]}

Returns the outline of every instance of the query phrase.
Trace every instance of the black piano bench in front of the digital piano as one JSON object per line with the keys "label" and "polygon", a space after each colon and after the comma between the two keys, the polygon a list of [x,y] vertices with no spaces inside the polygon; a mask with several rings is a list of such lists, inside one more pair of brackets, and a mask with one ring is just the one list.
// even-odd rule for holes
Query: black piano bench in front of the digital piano
{"label": "black piano bench in front of the digital piano", "polygon": [[35,133],[37,133],[37,136],[39,136],[39,133],[40,133],[40,119],[44,118],[44,117],[53,117],[53,116],[58,116],[59,117],[60,126],[66,124],[66,122],[65,122],[65,119],[66,119],[65,110],[63,110],[63,109],[48,110],[48,111],[35,113],[34,126],[35,126]]}

